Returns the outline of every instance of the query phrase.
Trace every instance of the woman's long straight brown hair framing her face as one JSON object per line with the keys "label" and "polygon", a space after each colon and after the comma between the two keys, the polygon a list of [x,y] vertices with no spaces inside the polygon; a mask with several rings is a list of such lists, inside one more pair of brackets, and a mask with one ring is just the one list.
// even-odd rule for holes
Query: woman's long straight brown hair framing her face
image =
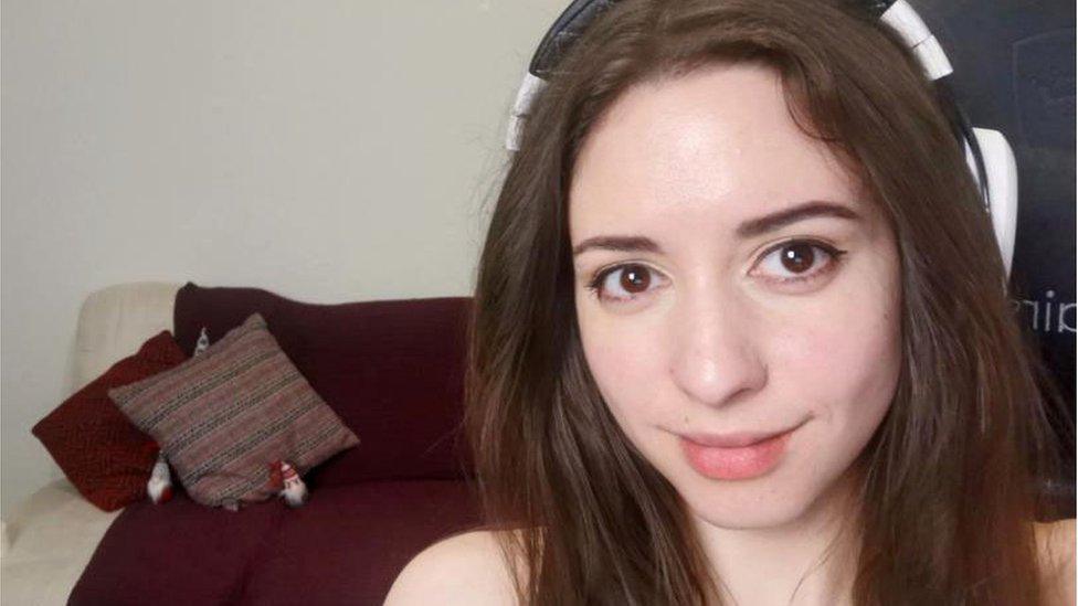
{"label": "woman's long straight brown hair framing her face", "polygon": [[[611,416],[581,348],[568,192],[631,86],[762,62],[799,126],[880,205],[901,263],[903,364],[866,446],[854,600],[1039,604],[1032,522],[1057,477],[1039,358],[944,106],[898,38],[837,0],[624,0],[539,93],[479,261],[465,432],[521,604],[721,603],[672,485]],[[1047,385],[1050,387],[1051,385]]]}

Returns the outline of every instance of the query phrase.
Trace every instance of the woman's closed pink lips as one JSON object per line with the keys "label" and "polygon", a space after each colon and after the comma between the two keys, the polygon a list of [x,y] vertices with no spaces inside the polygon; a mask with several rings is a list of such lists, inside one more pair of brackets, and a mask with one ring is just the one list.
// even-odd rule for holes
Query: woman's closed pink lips
{"label": "woman's closed pink lips", "polygon": [[762,476],[779,465],[794,429],[780,434],[690,434],[680,436],[681,450],[701,476],[744,480]]}

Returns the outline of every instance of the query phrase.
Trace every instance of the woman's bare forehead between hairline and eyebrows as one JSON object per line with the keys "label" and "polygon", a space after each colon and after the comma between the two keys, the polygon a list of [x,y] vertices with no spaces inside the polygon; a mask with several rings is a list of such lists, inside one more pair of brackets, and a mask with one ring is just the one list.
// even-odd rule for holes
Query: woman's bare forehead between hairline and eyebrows
{"label": "woman's bare forehead between hairline and eyebrows", "polygon": [[589,134],[569,195],[574,232],[677,219],[726,228],[806,200],[870,214],[832,150],[794,123],[779,75],[759,64],[628,89]]}

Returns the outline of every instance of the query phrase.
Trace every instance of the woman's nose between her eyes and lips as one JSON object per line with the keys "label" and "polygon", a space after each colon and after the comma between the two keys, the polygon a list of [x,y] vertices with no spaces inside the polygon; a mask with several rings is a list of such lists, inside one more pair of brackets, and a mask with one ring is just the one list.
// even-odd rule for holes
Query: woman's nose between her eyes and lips
{"label": "woman's nose between her eyes and lips", "polygon": [[768,368],[754,339],[757,319],[747,302],[715,291],[678,301],[673,322],[670,374],[691,400],[727,406],[758,392]]}

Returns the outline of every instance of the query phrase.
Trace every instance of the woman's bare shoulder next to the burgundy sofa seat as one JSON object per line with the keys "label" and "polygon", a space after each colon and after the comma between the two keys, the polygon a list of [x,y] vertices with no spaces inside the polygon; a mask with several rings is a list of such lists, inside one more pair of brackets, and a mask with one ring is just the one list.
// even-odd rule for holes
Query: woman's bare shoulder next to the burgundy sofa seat
{"label": "woman's bare shoulder next to the burgundy sofa seat", "polygon": [[383,606],[515,606],[493,531],[456,534],[424,549],[397,576]]}

